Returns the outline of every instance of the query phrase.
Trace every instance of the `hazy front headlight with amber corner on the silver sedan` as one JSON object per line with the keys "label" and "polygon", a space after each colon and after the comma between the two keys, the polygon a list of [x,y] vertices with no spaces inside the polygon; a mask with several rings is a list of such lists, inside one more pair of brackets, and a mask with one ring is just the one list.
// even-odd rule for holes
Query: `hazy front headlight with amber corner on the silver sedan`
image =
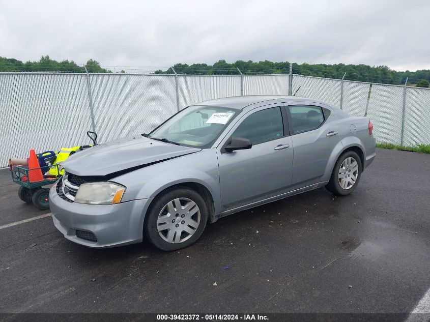
{"label": "hazy front headlight with amber corner on the silver sedan", "polygon": [[125,187],[113,182],[84,183],[79,186],[75,202],[113,204],[121,201]]}

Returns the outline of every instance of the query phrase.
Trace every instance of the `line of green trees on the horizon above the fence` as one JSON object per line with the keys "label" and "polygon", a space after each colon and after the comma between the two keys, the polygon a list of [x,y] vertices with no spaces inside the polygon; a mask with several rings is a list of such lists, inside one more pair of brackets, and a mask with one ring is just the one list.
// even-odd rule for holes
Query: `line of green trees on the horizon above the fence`
{"label": "line of green trees on the horizon above the fence", "polygon": [[[100,64],[91,59],[85,64],[90,73],[111,73],[110,70],[104,69]],[[237,68],[243,74],[288,74],[290,72],[290,62],[271,62],[271,61],[237,61],[227,63],[225,60],[219,60],[213,65],[208,64],[175,64],[173,66],[178,74],[203,74],[203,75],[238,75]],[[73,61],[63,60],[57,62],[52,60],[48,55],[42,56],[38,62],[22,63],[14,58],[0,57],[0,72],[85,72],[84,68],[78,66]],[[122,73],[123,71],[121,71]],[[155,74],[174,74],[170,67],[167,70],[156,70]],[[386,83],[386,84],[404,84],[406,78],[408,83],[415,83],[414,80],[421,79],[430,81],[430,70],[409,70],[400,72],[390,69],[388,66],[369,66],[369,65],[345,65],[345,64],[296,64],[293,63],[293,73],[306,76],[318,76],[326,78],[340,79],[346,73],[346,80]],[[419,82],[420,84],[421,81]],[[417,83],[418,84],[418,83]],[[420,85],[422,86],[422,85]],[[424,87],[428,87],[425,85]]]}

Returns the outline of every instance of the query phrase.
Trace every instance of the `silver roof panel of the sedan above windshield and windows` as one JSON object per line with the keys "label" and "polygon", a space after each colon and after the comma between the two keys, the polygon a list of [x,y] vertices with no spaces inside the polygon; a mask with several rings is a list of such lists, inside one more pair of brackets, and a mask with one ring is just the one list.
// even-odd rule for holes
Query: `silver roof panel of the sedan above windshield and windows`
{"label": "silver roof panel of the sedan above windshield and windows", "polygon": [[318,102],[318,103],[327,104],[325,102],[315,100],[315,99],[288,96],[288,95],[247,95],[247,96],[232,96],[232,97],[217,98],[214,100],[203,101],[193,105],[218,106],[218,107],[244,109],[245,107],[256,103],[265,102],[267,104],[271,104],[271,101],[274,101],[273,103],[278,103],[279,101],[282,101],[282,100],[289,101],[289,102],[299,101],[299,102],[313,102],[313,103]]}

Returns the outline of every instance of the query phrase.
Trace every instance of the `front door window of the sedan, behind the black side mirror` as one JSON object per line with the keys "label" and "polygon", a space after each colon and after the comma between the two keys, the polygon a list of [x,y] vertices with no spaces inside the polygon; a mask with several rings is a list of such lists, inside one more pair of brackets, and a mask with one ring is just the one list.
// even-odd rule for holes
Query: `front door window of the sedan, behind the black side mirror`
{"label": "front door window of the sedan, behind the black side mirror", "polygon": [[232,137],[251,140],[252,145],[284,136],[280,107],[271,107],[247,116]]}

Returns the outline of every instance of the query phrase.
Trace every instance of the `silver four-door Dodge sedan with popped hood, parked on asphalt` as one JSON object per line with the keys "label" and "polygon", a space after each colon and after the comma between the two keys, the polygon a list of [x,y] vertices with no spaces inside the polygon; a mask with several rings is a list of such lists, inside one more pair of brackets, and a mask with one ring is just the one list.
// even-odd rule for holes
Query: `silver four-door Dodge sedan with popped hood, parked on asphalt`
{"label": "silver four-door Dodge sedan with popped hood, parked on asphalt", "polygon": [[373,126],[330,104],[242,96],[189,106],[149,134],[71,156],[55,226],[89,247],[194,243],[207,222],[319,187],[347,195],[375,158]]}

